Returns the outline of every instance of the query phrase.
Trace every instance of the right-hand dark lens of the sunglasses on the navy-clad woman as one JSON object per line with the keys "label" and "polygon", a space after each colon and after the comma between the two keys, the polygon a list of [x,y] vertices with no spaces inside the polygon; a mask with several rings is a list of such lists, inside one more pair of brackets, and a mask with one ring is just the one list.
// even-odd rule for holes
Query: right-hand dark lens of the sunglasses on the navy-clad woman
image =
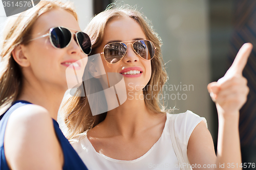
{"label": "right-hand dark lens of the sunglasses on the navy-clad woman", "polygon": [[92,50],[92,44],[91,44],[90,37],[86,33],[78,32],[77,33],[77,40],[78,40],[78,43],[81,47],[81,50],[85,54],[89,55],[91,53],[91,50]]}

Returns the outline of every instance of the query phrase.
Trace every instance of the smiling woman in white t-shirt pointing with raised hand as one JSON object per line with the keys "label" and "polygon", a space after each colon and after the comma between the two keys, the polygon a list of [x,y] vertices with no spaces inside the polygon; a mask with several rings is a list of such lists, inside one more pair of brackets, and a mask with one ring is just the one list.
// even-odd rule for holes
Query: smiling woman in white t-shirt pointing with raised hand
{"label": "smiling woman in white t-shirt pointing with raised hand", "polygon": [[[67,100],[65,122],[73,147],[89,169],[229,169],[228,163],[241,169],[239,109],[248,94],[242,70],[252,45],[245,44],[226,75],[208,85],[219,115],[216,156],[204,118],[186,111],[172,120],[174,115],[160,109],[154,96],[158,96],[167,76],[161,40],[150,26],[138,11],[125,7],[107,9],[89,23],[85,32],[92,39],[91,54],[101,55],[105,72],[122,74],[127,100],[95,116],[87,96]],[[89,71],[94,75],[100,70],[95,66]],[[179,166],[177,153],[185,164]]]}

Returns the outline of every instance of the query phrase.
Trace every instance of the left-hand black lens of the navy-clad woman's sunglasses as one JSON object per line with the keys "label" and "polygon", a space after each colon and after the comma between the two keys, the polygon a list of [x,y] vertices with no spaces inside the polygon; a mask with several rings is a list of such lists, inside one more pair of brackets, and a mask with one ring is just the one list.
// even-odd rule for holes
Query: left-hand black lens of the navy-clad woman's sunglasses
{"label": "left-hand black lens of the navy-clad woman's sunglasses", "polygon": [[71,32],[66,28],[56,27],[51,31],[52,43],[57,48],[66,47],[71,40]]}

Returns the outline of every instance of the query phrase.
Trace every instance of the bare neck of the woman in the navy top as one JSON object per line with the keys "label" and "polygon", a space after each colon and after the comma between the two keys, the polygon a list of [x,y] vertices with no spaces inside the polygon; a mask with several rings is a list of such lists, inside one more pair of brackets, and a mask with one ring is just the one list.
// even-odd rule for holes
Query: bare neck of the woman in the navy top
{"label": "bare neck of the woman in the navy top", "polygon": [[58,109],[65,89],[54,85],[40,84],[38,82],[29,83],[26,79],[23,82],[23,89],[17,100],[28,101],[32,104],[39,105],[47,109],[50,116],[57,120]]}

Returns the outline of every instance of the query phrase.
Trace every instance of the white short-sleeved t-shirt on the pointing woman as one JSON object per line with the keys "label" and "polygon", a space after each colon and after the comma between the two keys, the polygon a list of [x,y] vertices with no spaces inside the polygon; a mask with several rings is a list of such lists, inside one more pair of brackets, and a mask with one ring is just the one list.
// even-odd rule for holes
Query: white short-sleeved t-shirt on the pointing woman
{"label": "white short-sleeved t-shirt on the pointing woman", "polygon": [[[87,131],[77,135],[70,142],[89,170],[180,169],[170,137],[170,116],[172,114],[166,113],[165,126],[158,141],[149,151],[135,160],[117,160],[96,152],[86,136]],[[178,114],[175,120],[175,135],[186,159],[188,139],[202,120],[206,124],[204,117],[189,110]]]}

